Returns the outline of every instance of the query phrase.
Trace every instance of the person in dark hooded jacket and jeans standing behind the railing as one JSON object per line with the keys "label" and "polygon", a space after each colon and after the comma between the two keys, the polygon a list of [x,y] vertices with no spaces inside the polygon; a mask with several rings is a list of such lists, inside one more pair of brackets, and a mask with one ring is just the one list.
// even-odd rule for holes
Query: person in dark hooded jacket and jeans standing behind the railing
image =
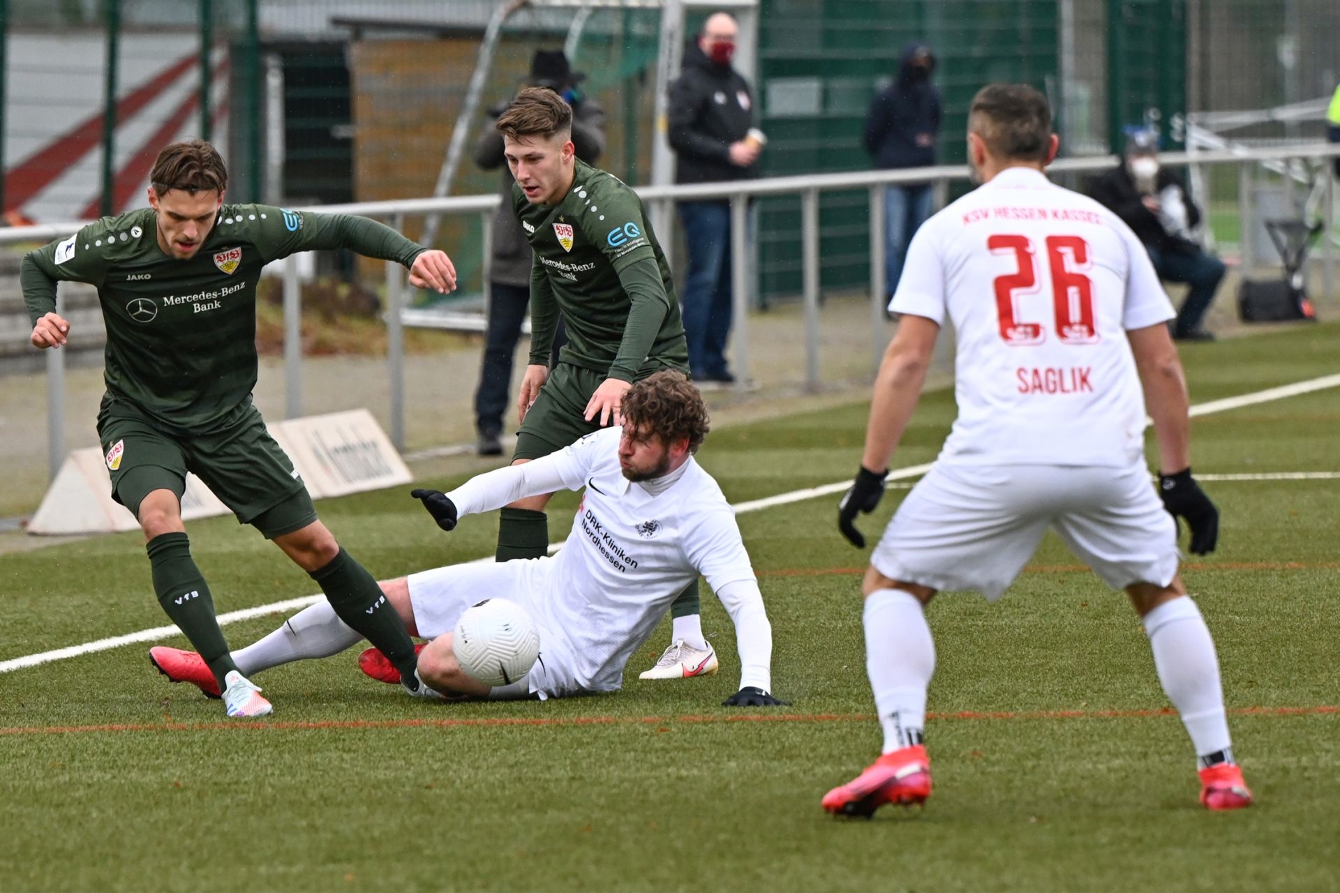
{"label": "person in dark hooded jacket and jeans standing behind the railing", "polygon": [[[935,56],[930,47],[914,43],[903,52],[898,78],[886,87],[866,115],[866,151],[880,170],[930,167],[935,163],[939,133],[939,91],[930,83]],[[884,194],[884,289],[898,288],[913,233],[931,214],[931,186],[899,183]]]}

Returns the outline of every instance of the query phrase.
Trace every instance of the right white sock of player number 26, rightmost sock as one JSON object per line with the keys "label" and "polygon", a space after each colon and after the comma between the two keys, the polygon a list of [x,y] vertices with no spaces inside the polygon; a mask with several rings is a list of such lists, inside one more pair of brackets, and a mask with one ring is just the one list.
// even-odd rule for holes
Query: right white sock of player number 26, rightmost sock
{"label": "right white sock of player number 26, rightmost sock", "polygon": [[1219,661],[1201,609],[1182,596],[1144,615],[1143,623],[1154,649],[1159,681],[1182,715],[1195,752],[1199,756],[1231,752],[1219,687]]}

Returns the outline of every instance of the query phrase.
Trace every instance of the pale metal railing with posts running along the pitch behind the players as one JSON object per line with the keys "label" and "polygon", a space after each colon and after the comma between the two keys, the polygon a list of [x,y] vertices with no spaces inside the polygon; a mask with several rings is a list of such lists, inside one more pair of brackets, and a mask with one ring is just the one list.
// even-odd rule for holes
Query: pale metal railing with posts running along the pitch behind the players
{"label": "pale metal railing with posts running along the pitch behind the players", "polygon": [[[1225,151],[1164,153],[1159,159],[1164,165],[1221,165],[1249,166],[1280,162],[1285,159],[1328,159],[1340,157],[1340,146],[1316,143],[1270,149],[1234,149]],[[1048,167],[1049,173],[1095,173],[1118,163],[1112,155],[1087,158],[1064,158]],[[801,301],[805,319],[805,384],[817,387],[819,379],[819,197],[825,191],[867,189],[870,193],[870,313],[871,313],[871,356],[872,367],[878,368],[879,357],[886,345],[884,329],[884,187],[896,183],[931,182],[942,194],[951,181],[969,178],[963,165],[921,167],[913,170],[874,170],[839,174],[812,174],[803,177],[776,177],[770,179],[734,181],[725,183],[694,183],[685,186],[639,186],[636,193],[649,205],[653,217],[659,213],[669,218],[675,201],[720,198],[730,202],[732,220],[732,282],[734,292],[734,328],[732,331],[732,366],[737,374],[737,387],[746,386],[749,371],[749,245],[746,242],[748,202],[762,195],[800,195],[801,198]],[[1332,249],[1332,226],[1335,218],[1333,178],[1327,177],[1324,214],[1325,238],[1323,240],[1324,288],[1328,295],[1335,289],[1335,252]],[[1240,197],[1245,201],[1245,197]],[[406,217],[429,214],[478,214],[484,224],[484,269],[488,269],[492,246],[489,245],[490,221],[498,205],[498,195],[460,195],[444,198],[407,198],[399,201],[358,202],[347,205],[323,205],[303,210],[320,213],[362,214],[382,218],[394,229],[402,230]],[[1248,217],[1244,214],[1244,221]],[[70,236],[82,228],[83,222],[47,224],[38,226],[16,226],[0,229],[0,245],[23,242],[48,242]],[[666,241],[669,245],[669,240]],[[299,278],[296,258],[283,261],[284,268],[284,375],[287,416],[300,415],[300,367],[302,340],[299,336]],[[397,449],[405,449],[405,337],[402,328],[403,270],[399,264],[386,265],[386,320],[387,320],[387,375],[390,379],[390,436]],[[48,455],[51,474],[55,477],[64,459],[64,353],[47,352],[48,374]]]}

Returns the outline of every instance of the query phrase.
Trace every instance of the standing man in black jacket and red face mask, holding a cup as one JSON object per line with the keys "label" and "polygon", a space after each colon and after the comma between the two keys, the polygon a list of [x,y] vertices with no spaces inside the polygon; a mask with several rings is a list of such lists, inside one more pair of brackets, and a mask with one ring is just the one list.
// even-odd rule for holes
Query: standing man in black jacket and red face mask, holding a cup
{"label": "standing man in black jacket and red face mask, holding a cup", "polygon": [[[758,175],[762,135],[753,130],[753,98],[730,67],[738,25],[717,12],[702,25],[670,84],[667,130],[679,158],[677,183],[710,183]],[[679,202],[689,248],[683,284],[683,331],[689,367],[698,382],[733,382],[725,348],[730,337],[730,202]]]}

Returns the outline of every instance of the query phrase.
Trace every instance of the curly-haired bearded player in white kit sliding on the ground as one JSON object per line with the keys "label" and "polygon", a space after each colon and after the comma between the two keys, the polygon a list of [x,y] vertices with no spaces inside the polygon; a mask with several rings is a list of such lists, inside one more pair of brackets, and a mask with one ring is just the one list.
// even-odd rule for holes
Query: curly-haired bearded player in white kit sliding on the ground
{"label": "curly-haired bearded player in white kit sliding on the ground", "polygon": [[[553,557],[437,568],[382,584],[410,635],[431,639],[418,675],[449,698],[568,698],[615,691],[623,667],[689,580],[708,578],[736,628],[740,691],[729,707],[785,704],[772,685],[772,625],[734,511],[693,454],[708,434],[708,410],[687,379],[657,372],[623,394],[623,426],[603,428],[549,455],[489,471],[442,494],[415,490],[444,530],[540,493],[582,490],[572,533]],[[509,685],[466,675],[452,629],[481,598],[523,605],[540,632],[540,659]],[[326,657],[362,640],[318,602],[232,657],[252,675],[306,657]],[[151,649],[173,681],[217,694],[198,655]],[[368,675],[394,681],[375,649],[359,659]]]}

